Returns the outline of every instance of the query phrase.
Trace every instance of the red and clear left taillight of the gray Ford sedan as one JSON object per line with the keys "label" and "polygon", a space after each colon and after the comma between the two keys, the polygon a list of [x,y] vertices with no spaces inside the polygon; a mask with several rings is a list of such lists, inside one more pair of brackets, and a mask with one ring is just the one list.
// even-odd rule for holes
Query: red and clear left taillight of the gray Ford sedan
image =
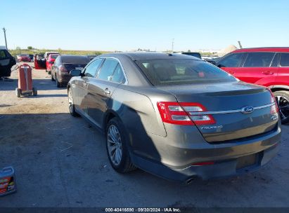
{"label": "red and clear left taillight of the gray Ford sedan", "polygon": [[179,125],[208,125],[215,123],[211,115],[191,115],[194,112],[207,111],[202,104],[186,102],[158,102],[162,122]]}

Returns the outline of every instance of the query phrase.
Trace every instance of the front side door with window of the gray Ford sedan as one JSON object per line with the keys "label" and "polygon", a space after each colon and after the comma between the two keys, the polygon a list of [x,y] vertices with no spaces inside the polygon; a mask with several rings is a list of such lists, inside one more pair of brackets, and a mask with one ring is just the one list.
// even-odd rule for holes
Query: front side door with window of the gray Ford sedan
{"label": "front side door with window of the gray Ford sedan", "polygon": [[77,108],[85,115],[89,115],[88,109],[91,107],[91,95],[88,92],[89,82],[96,77],[102,63],[102,58],[91,61],[82,71],[83,76],[77,81]]}

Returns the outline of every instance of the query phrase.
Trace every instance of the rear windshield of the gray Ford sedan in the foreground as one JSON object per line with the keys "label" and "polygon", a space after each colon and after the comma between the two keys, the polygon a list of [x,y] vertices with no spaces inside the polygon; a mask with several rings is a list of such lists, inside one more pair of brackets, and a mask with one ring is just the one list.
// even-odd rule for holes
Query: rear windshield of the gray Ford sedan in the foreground
{"label": "rear windshield of the gray Ford sedan in the foreground", "polygon": [[136,63],[153,85],[237,81],[218,67],[200,60],[143,60]]}

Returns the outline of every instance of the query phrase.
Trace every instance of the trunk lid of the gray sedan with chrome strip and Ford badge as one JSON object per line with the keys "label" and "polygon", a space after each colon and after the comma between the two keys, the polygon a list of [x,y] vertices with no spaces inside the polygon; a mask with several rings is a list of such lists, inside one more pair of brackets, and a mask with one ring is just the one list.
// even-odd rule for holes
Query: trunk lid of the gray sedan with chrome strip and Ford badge
{"label": "trunk lid of the gray sedan with chrome strip and Ford badge", "polygon": [[197,125],[207,142],[219,143],[264,134],[274,130],[278,123],[278,116],[271,113],[269,90],[257,85],[238,81],[158,88],[172,93],[178,102],[200,103],[206,108],[207,112],[188,114],[214,118],[215,123]]}

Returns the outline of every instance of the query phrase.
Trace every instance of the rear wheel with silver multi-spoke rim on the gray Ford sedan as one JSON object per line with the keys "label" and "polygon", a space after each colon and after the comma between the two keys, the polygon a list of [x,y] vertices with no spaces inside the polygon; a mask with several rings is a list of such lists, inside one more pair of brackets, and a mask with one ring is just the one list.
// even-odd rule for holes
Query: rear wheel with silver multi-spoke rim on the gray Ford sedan
{"label": "rear wheel with silver multi-spoke rim on the gray Ford sedan", "polygon": [[127,149],[127,135],[125,134],[124,126],[118,118],[112,118],[108,121],[105,129],[106,151],[108,159],[113,169],[120,173],[127,173],[136,170],[136,167],[131,163],[129,150]]}

